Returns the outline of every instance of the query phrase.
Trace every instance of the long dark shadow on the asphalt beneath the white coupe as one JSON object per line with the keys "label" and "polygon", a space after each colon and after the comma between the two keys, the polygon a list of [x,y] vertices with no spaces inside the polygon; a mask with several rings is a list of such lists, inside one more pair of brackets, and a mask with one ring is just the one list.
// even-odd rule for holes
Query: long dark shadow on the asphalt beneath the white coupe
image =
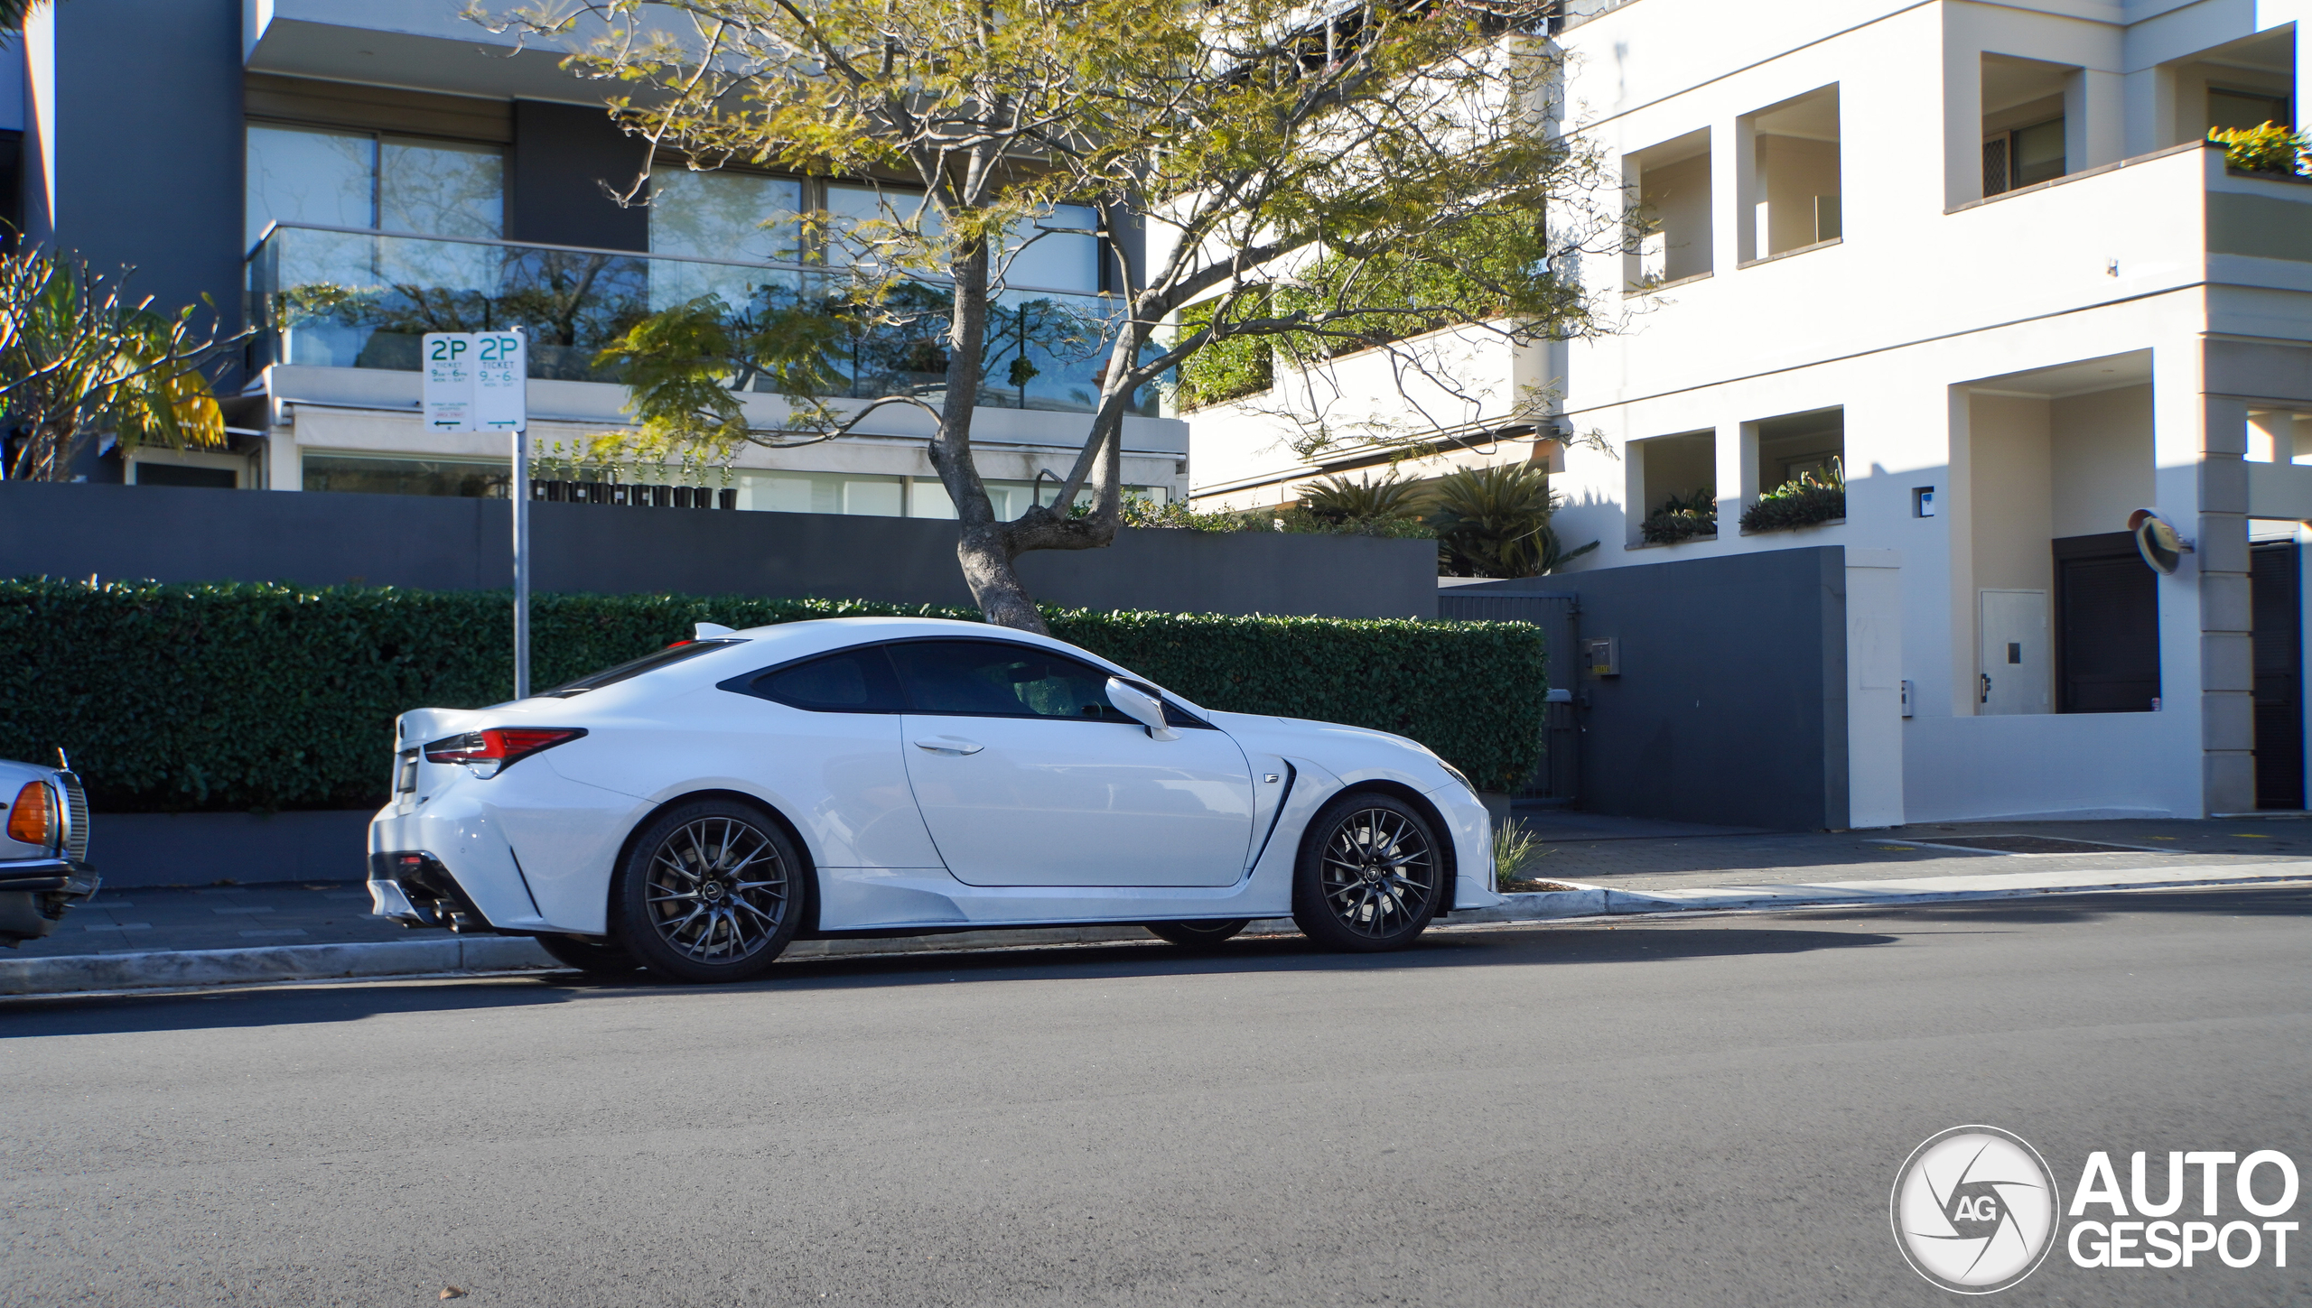
{"label": "long dark shadow on the asphalt beneath the white coupe", "polygon": [[1750,927],[1695,922],[1690,931],[1644,931],[1621,924],[1558,927],[1547,931],[1431,934],[1396,954],[1329,954],[1299,936],[1230,941],[1211,952],[1186,952],[1158,941],[1073,947],[976,950],[955,954],[888,954],[779,964],[768,978],[740,987],[677,987],[666,982],[596,982],[576,973],[488,980],[372,980],[326,984],[266,984],[201,994],[25,998],[0,1008],[0,1038],[120,1035],[136,1031],[203,1031],[231,1026],[301,1026],[361,1021],[391,1015],[439,1015],[502,1008],[543,1008],[617,998],[707,998],[714,994],[779,994],[959,982],[1121,980],[1218,973],[1380,973],[1406,968],[1500,968],[1711,959],[1732,954],[1803,954],[1896,943],[1854,929]]}

